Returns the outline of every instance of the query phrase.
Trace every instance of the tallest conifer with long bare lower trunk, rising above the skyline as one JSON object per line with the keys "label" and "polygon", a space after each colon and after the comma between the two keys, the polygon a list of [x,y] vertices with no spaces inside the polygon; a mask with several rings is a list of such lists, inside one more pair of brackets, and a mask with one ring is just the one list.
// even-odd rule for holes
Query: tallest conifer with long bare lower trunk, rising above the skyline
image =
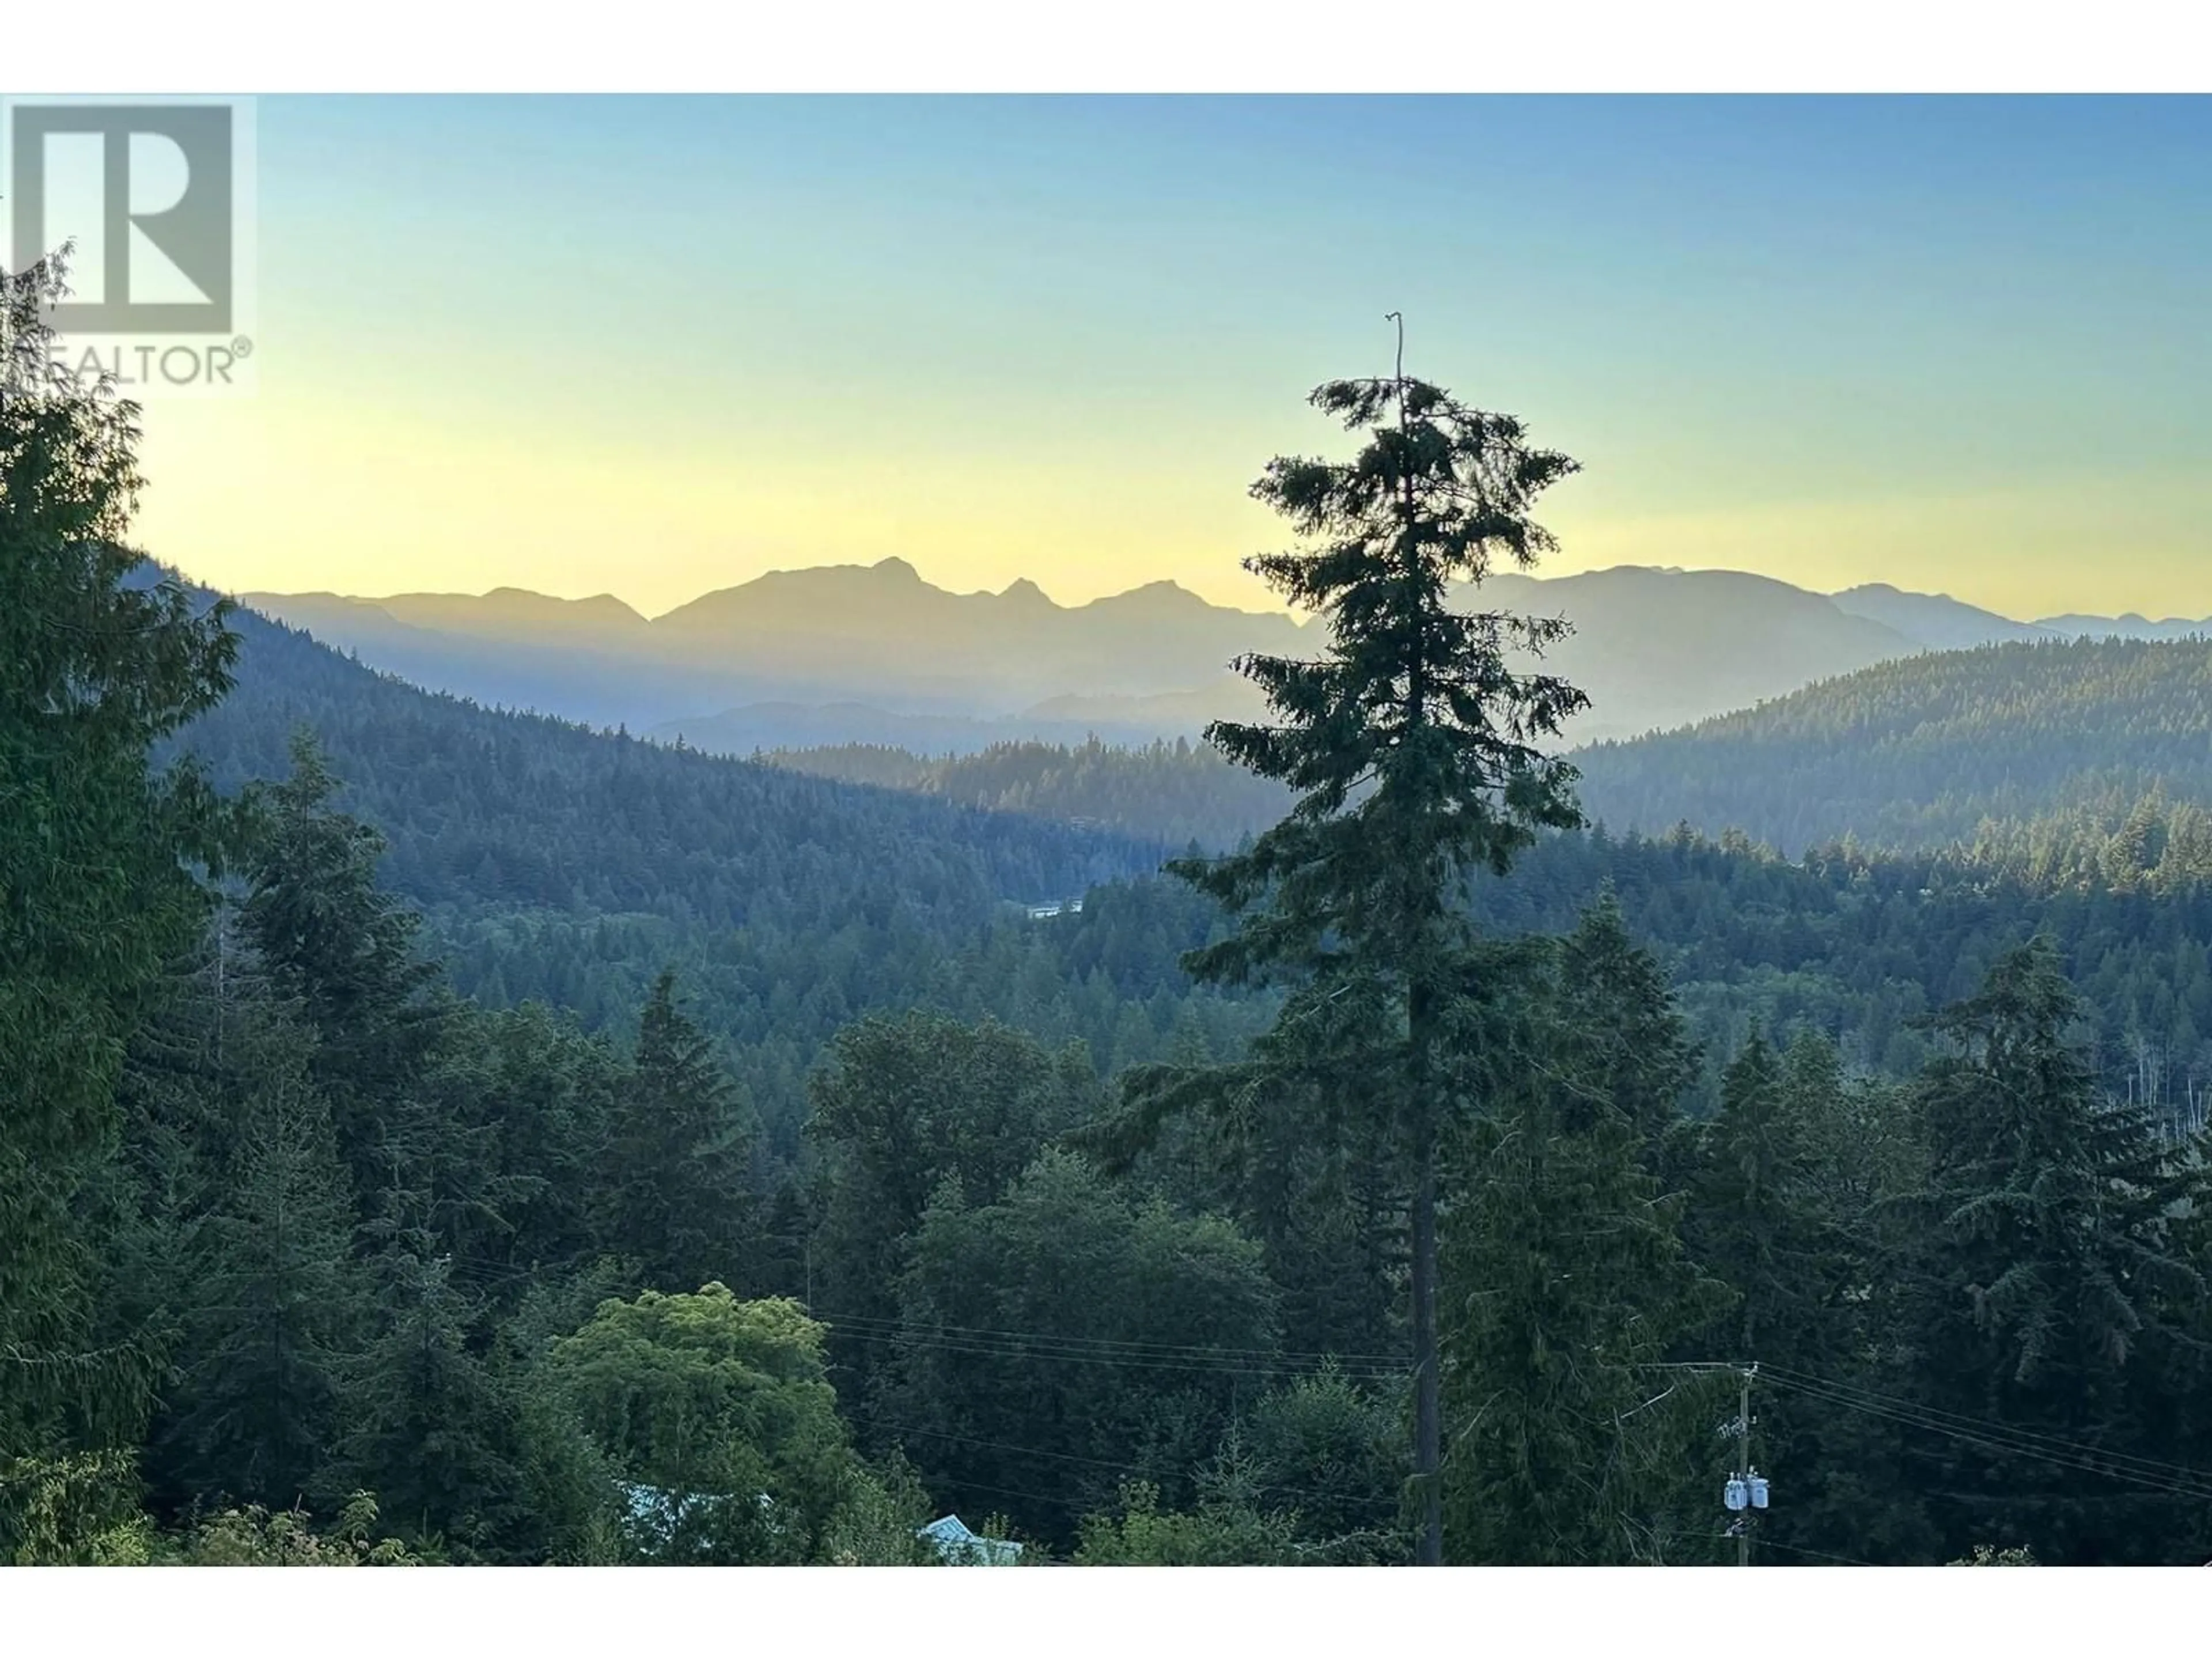
{"label": "tallest conifer with long bare lower trunk, rising above the skyline", "polygon": [[[1586,699],[1524,672],[1564,633],[1453,606],[1453,582],[1528,566],[1553,546],[1533,500],[1575,471],[1520,420],[1398,374],[1334,380],[1312,403],[1365,431],[1349,462],[1279,458],[1252,493],[1312,546],[1248,560],[1329,628],[1318,661],[1248,657],[1281,723],[1217,723],[1232,761],[1296,792],[1290,816],[1221,860],[1181,860],[1241,918],[1188,958],[1206,980],[1305,975],[1325,995],[1365,984],[1380,1015],[1360,1099],[1374,1144],[1411,1192],[1413,1471],[1425,1493],[1418,1559],[1442,1559],[1436,1363],[1438,1146],[1453,1117],[1440,1053],[1467,951],[1464,887],[1504,874],[1546,825],[1579,821],[1573,768],[1542,752]],[[1287,1018],[1287,1015],[1285,1015]]]}

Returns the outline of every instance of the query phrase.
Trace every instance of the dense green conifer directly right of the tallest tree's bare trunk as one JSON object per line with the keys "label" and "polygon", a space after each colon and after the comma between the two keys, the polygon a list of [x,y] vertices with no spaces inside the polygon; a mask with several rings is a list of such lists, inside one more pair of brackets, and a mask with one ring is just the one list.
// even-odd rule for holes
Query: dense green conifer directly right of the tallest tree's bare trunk
{"label": "dense green conifer directly right of the tallest tree's bare trunk", "polygon": [[1681,1053],[1659,1044],[1637,1075],[1635,1055],[1590,1037],[1668,1031],[1672,995],[1604,905],[1566,940],[1484,956],[1455,1026],[1489,1110],[1447,1144],[1451,1557],[1699,1559],[1683,1537],[1705,1500],[1705,1400],[1659,1365],[1730,1294],[1692,1263],[1683,1197],[1648,1168],[1646,1124],[1670,1108]]}

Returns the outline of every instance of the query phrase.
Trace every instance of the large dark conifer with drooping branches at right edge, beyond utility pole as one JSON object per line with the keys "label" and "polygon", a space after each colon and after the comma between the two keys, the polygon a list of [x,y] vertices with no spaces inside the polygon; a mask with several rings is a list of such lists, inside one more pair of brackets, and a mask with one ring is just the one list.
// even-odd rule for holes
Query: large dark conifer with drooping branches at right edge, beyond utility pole
{"label": "large dark conifer with drooping branches at right edge, beyond utility pole", "polygon": [[2099,1453],[2161,1458],[2143,1429],[2205,1296],[2177,1232],[2205,1203],[2203,1170],[2141,1104],[2097,1086],[2079,1020],[2057,951],[2037,938],[1936,1018],[1951,1053],[1916,1091],[1929,1148],[1916,1369],[1927,1405],[1995,1425],[2015,1447],[1947,1440],[1927,1453],[1951,1553],[2004,1537],[2039,1562],[2170,1559],[2194,1513],[2017,1449],[2026,1433],[2093,1469]]}

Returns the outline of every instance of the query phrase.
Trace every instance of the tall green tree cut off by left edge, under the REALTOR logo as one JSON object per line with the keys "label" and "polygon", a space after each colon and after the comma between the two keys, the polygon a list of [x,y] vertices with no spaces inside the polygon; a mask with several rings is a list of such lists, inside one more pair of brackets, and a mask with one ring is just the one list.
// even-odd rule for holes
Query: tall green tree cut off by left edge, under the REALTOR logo
{"label": "tall green tree cut off by left edge, under the REALTOR logo", "polygon": [[137,409],[49,358],[58,263],[0,272],[0,1553],[40,1460],[135,1431],[144,1332],[91,1340],[77,1206],[113,1148],[115,1079],[221,849],[192,772],[153,745],[228,690],[221,611],[135,580]]}

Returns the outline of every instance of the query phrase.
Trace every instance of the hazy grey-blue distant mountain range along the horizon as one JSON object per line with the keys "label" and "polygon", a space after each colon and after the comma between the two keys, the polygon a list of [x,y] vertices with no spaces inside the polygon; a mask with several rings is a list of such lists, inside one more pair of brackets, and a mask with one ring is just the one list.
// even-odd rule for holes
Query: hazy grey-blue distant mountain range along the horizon
{"label": "hazy grey-blue distant mountain range along the horizon", "polygon": [[[1321,646],[1287,615],[1217,606],[1172,582],[1062,606],[1033,582],[949,593],[905,560],[774,571],[650,619],[611,595],[522,588],[239,597],[431,690],[737,754],[1194,737],[1210,719],[1259,714],[1234,657]],[[1650,566],[1500,575],[1480,604],[1575,624],[1548,657],[1590,697],[1573,741],[1694,723],[1922,650],[2212,630],[2212,619],[2137,615],[2017,622],[1887,584],[1823,595],[1741,571]]]}

